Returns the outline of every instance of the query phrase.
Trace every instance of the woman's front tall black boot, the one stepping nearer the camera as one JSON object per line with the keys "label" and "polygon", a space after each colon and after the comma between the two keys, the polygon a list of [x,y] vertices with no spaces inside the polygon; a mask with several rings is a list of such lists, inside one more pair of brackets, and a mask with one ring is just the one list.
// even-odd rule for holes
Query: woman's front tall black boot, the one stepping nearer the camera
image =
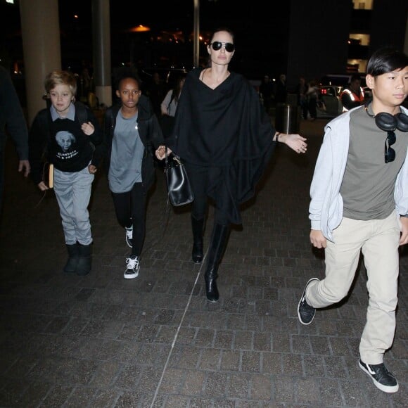
{"label": "woman's front tall black boot, the one stepping nearer the camera", "polygon": [[210,250],[207,259],[207,268],[205,269],[205,295],[210,302],[217,302],[219,292],[217,288],[218,266],[221,261],[224,249],[227,246],[229,226],[215,224],[212,231]]}

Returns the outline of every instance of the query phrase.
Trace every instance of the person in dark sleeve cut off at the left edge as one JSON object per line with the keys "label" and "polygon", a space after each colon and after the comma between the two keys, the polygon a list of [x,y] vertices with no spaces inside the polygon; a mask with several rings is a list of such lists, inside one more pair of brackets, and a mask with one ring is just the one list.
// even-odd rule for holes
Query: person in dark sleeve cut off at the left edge
{"label": "person in dark sleeve cut off at the left edge", "polygon": [[3,201],[4,154],[7,136],[11,137],[17,150],[18,171],[23,172],[24,177],[27,177],[30,174],[27,123],[11,77],[6,68],[0,65],[0,211]]}

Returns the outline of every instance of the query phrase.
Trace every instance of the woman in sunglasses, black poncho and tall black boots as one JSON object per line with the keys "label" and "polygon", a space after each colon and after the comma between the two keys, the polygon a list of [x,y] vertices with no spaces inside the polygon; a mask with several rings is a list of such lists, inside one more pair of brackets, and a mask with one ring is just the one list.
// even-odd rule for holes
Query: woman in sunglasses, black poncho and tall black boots
{"label": "woman in sunglasses, black poncho and tall black boots", "polygon": [[[215,200],[215,221],[205,267],[205,294],[217,302],[219,262],[227,246],[230,224],[241,224],[239,205],[255,193],[255,185],[272,156],[276,142],[305,153],[306,139],[276,132],[254,87],[229,71],[234,34],[216,30],[207,46],[208,68],[189,72],[181,92],[171,151],[185,162],[194,193],[191,208],[193,262],[203,261],[203,229],[208,197]],[[156,151],[165,158],[165,146]]]}

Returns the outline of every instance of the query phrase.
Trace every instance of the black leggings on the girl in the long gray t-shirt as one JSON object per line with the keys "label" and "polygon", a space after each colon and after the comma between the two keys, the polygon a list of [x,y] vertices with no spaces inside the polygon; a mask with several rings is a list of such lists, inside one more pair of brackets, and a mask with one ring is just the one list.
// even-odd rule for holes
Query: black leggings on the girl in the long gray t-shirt
{"label": "black leggings on the girl in the long gray t-shirt", "polygon": [[146,233],[146,191],[141,183],[135,183],[127,193],[112,193],[116,218],[119,224],[129,228],[133,224],[132,255],[140,256]]}

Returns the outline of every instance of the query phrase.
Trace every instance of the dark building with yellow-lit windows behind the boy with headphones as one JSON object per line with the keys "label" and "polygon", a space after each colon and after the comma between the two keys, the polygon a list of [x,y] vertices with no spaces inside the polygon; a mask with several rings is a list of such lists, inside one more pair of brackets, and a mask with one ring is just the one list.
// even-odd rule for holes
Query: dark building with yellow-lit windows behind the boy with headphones
{"label": "dark building with yellow-lit windows behind the boy with headphones", "polygon": [[395,46],[408,53],[405,0],[291,1],[288,84],[300,75],[365,72],[376,49]]}

